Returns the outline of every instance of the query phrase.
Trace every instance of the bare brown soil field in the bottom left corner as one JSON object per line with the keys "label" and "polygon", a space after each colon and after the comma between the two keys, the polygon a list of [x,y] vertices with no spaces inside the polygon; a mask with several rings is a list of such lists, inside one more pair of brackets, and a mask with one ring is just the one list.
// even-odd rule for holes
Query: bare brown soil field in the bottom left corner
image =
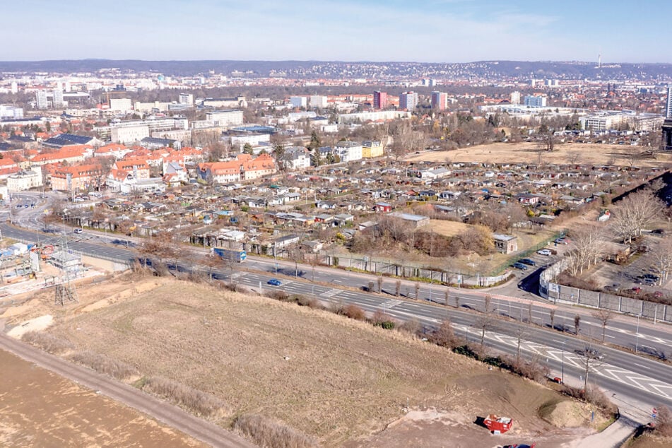
{"label": "bare brown soil field in the bottom left corner", "polygon": [[205,446],[4,350],[0,366],[0,446]]}

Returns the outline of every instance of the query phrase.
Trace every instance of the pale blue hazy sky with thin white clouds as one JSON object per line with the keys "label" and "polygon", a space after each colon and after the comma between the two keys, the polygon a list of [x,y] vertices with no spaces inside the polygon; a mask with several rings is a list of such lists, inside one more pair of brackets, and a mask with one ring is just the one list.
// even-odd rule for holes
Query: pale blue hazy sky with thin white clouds
{"label": "pale blue hazy sky with thin white clouds", "polygon": [[0,59],[672,62],[672,0],[6,0]]}

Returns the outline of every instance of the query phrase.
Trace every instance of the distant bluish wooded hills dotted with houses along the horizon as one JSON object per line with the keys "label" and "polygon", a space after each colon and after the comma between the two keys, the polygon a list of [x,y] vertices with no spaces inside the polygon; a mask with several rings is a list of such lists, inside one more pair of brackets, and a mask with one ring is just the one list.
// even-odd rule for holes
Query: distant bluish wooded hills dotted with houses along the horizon
{"label": "distant bluish wooded hills dotted with houses along the horizon", "polygon": [[[476,61],[455,64],[422,62],[344,61],[140,61],[79,59],[60,61],[0,61],[2,73],[156,73],[165,76],[233,77],[284,76],[287,78],[488,78],[603,79],[669,82],[672,64],[604,64],[581,61]],[[5,75],[6,76],[6,75]]]}

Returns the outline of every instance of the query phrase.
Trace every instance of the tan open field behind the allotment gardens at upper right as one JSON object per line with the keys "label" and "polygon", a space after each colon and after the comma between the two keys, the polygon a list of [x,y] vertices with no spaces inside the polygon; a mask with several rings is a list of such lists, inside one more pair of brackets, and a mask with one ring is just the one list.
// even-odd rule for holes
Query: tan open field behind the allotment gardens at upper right
{"label": "tan open field behind the allotment gardens at upper right", "polygon": [[[633,149],[634,148],[634,149]],[[577,163],[630,165],[626,153],[642,151],[639,146],[603,145],[594,143],[560,143],[552,153],[541,153],[543,163]],[[429,151],[408,155],[411,162],[482,162],[482,163],[538,163],[539,151],[536,143],[490,143],[489,145],[460,148],[455,151]],[[672,155],[658,154],[656,159],[636,160],[642,167],[660,166],[671,163]]]}

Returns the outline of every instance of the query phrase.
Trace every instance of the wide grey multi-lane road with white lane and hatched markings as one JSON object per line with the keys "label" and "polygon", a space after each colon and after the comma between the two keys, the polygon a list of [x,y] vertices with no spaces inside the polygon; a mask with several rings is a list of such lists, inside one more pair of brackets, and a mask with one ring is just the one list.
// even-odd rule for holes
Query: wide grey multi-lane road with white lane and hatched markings
{"label": "wide grey multi-lane road with white lane and hatched markings", "polygon": [[[34,196],[28,195],[15,201],[28,203],[34,199]],[[30,204],[28,208],[16,209],[18,213],[13,213],[13,222],[35,230],[3,224],[0,225],[2,235],[28,241],[56,237],[36,232],[43,224],[35,216],[42,213],[46,204],[43,201],[37,201],[35,207],[33,202]],[[70,231],[69,235],[71,249],[83,254],[120,261],[137,256],[128,247],[134,244],[129,239],[100,235],[99,232],[73,235]],[[179,267],[194,269],[189,264]],[[446,305],[447,288],[442,285],[421,284],[416,297],[415,283],[403,281],[397,296],[396,280],[384,278],[381,293],[373,293],[367,288],[373,282],[377,290],[374,276],[256,257],[249,257],[244,264],[235,265],[234,269],[216,271],[215,275],[257,290],[281,289],[287,293],[314,295],[323,302],[353,303],[367,312],[383,310],[395,319],[417,319],[427,331],[449,317],[457,334],[471,341],[480,342],[481,338],[481,328],[476,323],[481,316],[478,310],[483,310],[484,305],[486,293],[482,291],[449,288]],[[268,285],[271,278],[278,278],[282,284],[277,287]],[[586,360],[577,351],[590,345],[600,350],[604,358],[590,363],[589,379],[613,394],[613,401],[624,415],[644,423],[650,420],[653,407],[660,404],[672,406],[672,367],[650,356],[642,356],[643,353],[652,353],[659,357],[672,357],[669,326],[619,316],[608,322],[604,335],[606,345],[602,346],[601,324],[591,316],[590,310],[555,306],[544,300],[498,295],[497,290],[490,290],[487,294],[491,297],[491,314],[497,318],[486,331],[486,345],[502,353],[514,354],[517,352],[517,335],[521,334],[521,350],[526,357],[534,356],[546,362],[553,376],[563,376],[565,382],[574,385],[582,384],[586,371]],[[525,296],[529,297],[529,294]],[[456,307],[458,304],[459,307]],[[553,309],[555,328],[565,331],[550,329],[550,310]],[[581,316],[580,338],[574,335],[576,314]],[[530,316],[533,324],[529,324]],[[632,353],[635,349],[638,355]]]}

